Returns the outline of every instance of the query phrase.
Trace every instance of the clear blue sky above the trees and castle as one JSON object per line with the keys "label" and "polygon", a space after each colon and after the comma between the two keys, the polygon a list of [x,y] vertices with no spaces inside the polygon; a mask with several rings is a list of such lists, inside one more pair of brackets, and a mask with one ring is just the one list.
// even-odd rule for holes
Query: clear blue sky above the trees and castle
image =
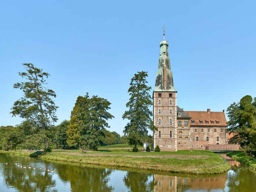
{"label": "clear blue sky above the trees and castle", "polygon": [[178,106],[222,111],[245,95],[256,97],[254,0],[6,0],[0,2],[0,125],[21,122],[9,114],[22,96],[13,84],[23,80],[22,63],[33,63],[51,75],[55,125],[69,120],[76,98],[88,92],[112,103],[109,130],[123,135],[134,73],[147,71],[154,89],[164,25]]}

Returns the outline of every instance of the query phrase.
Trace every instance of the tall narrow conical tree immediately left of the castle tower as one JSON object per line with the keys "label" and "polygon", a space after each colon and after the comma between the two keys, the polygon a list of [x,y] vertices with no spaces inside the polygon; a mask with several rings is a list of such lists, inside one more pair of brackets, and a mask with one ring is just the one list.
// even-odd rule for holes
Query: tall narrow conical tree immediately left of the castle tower
{"label": "tall narrow conical tree immediately left of the castle tower", "polygon": [[134,145],[134,149],[137,149],[137,145],[142,145],[143,141],[147,138],[148,130],[157,130],[153,125],[151,119],[152,111],[148,108],[153,105],[152,97],[149,95],[151,87],[148,87],[146,83],[147,72],[138,72],[131,79],[130,87],[128,89],[131,96],[126,107],[129,108],[122,116],[123,119],[128,119],[124,129],[124,134],[128,137],[129,145]]}

